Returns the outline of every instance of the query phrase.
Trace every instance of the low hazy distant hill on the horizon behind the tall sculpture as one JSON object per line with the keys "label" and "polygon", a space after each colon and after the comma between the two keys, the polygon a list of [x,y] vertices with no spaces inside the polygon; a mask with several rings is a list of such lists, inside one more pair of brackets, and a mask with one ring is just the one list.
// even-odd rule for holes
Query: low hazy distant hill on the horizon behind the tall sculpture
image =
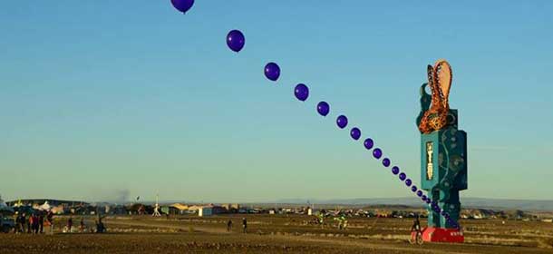
{"label": "low hazy distant hill on the horizon behind the tall sculpture", "polygon": [[[339,199],[339,200],[309,200],[312,204],[342,204],[342,205],[406,205],[422,207],[422,202],[414,198],[391,199]],[[276,200],[275,203],[306,204],[306,199]],[[463,208],[483,208],[502,210],[542,210],[553,211],[553,200],[500,200],[484,198],[462,198]]]}

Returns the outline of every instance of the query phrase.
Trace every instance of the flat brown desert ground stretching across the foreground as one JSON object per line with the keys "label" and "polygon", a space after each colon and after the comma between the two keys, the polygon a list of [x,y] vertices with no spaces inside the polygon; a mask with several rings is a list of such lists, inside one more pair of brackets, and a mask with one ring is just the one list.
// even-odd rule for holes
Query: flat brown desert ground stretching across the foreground
{"label": "flat brown desert ground stretching across the foreground", "polygon": [[[553,253],[553,223],[464,220],[463,244],[408,242],[410,219],[352,218],[346,230],[321,227],[306,215],[107,217],[107,233],[63,233],[68,217],[55,218],[53,233],[0,234],[0,253]],[[74,216],[78,226],[82,217]],[[95,217],[84,217],[87,227]],[[226,223],[233,221],[228,232]],[[424,224],[425,221],[422,221]],[[48,230],[48,229],[46,229]]]}

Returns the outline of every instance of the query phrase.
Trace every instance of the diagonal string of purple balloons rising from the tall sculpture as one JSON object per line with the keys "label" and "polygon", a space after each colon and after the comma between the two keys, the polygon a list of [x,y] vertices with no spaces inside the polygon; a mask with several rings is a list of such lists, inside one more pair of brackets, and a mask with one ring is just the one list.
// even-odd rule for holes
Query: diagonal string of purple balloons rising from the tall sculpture
{"label": "diagonal string of purple balloons rising from the tall sculpture", "polygon": [[[171,4],[179,10],[179,12],[186,14],[186,12],[189,11],[189,9],[194,5],[194,0],[171,0]],[[244,45],[246,44],[246,37],[244,34],[239,30],[232,30],[228,32],[227,34],[227,46],[230,50],[233,52],[240,52]],[[276,63],[268,63],[265,65],[264,69],[265,76],[268,80],[272,82],[276,82],[278,78],[280,77],[280,66]],[[296,87],[294,88],[294,95],[296,96],[296,99],[301,102],[306,102],[306,100],[309,98],[309,87],[307,87],[304,83],[298,83],[296,84]],[[316,105],[316,111],[322,115],[323,117],[326,117],[328,113],[330,113],[330,104],[326,103],[324,101],[317,103]],[[347,116],[341,114],[338,117],[336,117],[336,125],[339,129],[345,129],[348,125],[348,119]],[[361,130],[358,127],[353,127],[350,129],[350,137],[354,141],[358,141],[361,139]],[[371,138],[364,139],[363,142],[364,148],[367,151],[373,151],[373,157],[375,160],[380,160],[383,157],[383,151],[380,148],[374,148],[374,141]],[[384,168],[389,168],[392,164],[392,161],[384,157],[382,159],[382,164]],[[442,210],[440,208],[440,205],[435,200],[431,200],[429,197],[427,197],[422,190],[419,190],[419,188],[412,183],[412,180],[407,177],[407,174],[400,170],[398,166],[393,166],[391,170],[393,175],[396,175],[400,181],[404,183],[404,185],[409,188],[414,195],[419,197],[422,202],[429,205],[432,210],[438,214],[441,214],[447,222],[456,229],[459,229],[459,224],[453,220],[450,216],[450,214]]]}

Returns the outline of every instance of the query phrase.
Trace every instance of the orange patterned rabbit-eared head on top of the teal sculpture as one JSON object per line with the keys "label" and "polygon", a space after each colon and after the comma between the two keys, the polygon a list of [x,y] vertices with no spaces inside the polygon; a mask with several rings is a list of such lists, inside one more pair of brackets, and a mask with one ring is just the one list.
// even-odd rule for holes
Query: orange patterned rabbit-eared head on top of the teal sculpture
{"label": "orange patterned rabbit-eared head on top of the teal sculpture", "polygon": [[428,86],[432,92],[432,105],[422,115],[419,131],[430,133],[443,129],[447,125],[450,111],[449,96],[451,88],[451,66],[445,60],[438,60],[434,66],[428,65]]}

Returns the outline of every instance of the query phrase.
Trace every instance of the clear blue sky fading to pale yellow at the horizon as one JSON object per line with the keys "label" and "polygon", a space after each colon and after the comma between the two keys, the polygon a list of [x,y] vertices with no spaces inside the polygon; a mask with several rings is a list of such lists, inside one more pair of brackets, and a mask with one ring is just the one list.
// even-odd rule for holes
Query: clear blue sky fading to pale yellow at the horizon
{"label": "clear blue sky fading to pale yellow at the horizon", "polygon": [[[411,196],[426,64],[453,68],[464,197],[552,199],[553,2],[5,1],[0,194],[257,201]],[[231,29],[246,34],[239,54]],[[282,68],[277,83],[263,67]],[[296,101],[306,83],[311,97]],[[319,100],[331,114],[316,114]],[[461,200],[462,201],[462,200]]]}

